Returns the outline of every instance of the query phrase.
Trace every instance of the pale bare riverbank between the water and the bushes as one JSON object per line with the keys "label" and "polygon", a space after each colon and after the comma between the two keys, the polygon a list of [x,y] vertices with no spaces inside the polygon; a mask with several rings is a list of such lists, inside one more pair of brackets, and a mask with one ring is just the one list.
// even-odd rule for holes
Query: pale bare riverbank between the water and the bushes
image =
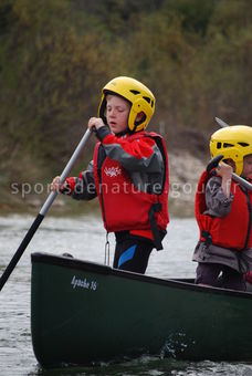
{"label": "pale bare riverbank between the water and the bushes", "polygon": [[[169,153],[169,213],[176,217],[191,217],[195,208],[195,194],[206,161],[192,156],[187,150]],[[13,212],[36,213],[49,195],[49,184],[10,184],[1,187],[0,213]],[[60,195],[50,209],[51,215],[81,215],[83,212],[99,212],[98,200],[90,202],[74,201]]]}

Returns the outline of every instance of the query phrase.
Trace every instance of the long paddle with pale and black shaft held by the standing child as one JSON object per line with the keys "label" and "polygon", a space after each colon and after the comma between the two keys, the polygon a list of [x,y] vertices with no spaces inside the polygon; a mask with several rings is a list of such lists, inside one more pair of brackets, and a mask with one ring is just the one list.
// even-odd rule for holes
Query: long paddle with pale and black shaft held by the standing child
{"label": "long paddle with pale and black shaft held by the standing child", "polygon": [[[81,153],[81,150],[83,149],[83,147],[87,143],[90,136],[91,136],[91,130],[87,129],[85,132],[83,138],[81,139],[80,144],[77,145],[76,149],[74,150],[72,157],[70,158],[67,165],[65,166],[64,170],[61,174],[61,178],[60,178],[60,182],[61,184],[63,184],[65,181],[65,179],[69,176],[69,174],[70,174],[70,171],[71,171],[75,160],[77,159],[77,157],[78,157],[78,155]],[[56,196],[57,196],[56,191],[52,191],[49,195],[49,197],[48,197],[46,201],[44,202],[43,207],[41,208],[39,215],[36,216],[36,218],[34,219],[34,221],[32,223],[32,226],[28,230],[28,232],[27,232],[25,237],[23,238],[21,244],[19,246],[17,252],[14,253],[14,255],[11,259],[9,265],[7,267],[7,269],[4,270],[4,272],[2,273],[2,275],[0,278],[0,291],[4,286],[8,278],[10,276],[10,274],[12,273],[14,267],[19,262],[21,255],[25,251],[28,244],[30,243],[32,237],[34,236],[34,233],[38,230],[38,228],[39,228],[40,223],[42,222],[42,220],[44,219],[46,212],[49,211],[49,208],[53,203],[53,201],[56,198]]]}

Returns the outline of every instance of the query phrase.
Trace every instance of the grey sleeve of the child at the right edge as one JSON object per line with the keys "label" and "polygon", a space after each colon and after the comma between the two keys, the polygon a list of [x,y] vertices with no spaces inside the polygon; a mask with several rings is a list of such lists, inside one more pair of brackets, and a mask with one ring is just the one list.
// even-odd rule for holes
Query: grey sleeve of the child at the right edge
{"label": "grey sleeve of the child at the right edge", "polygon": [[227,198],[223,194],[221,181],[220,177],[214,176],[208,180],[206,187],[206,203],[208,207],[206,213],[213,217],[227,216],[231,210],[233,201],[232,194],[230,198]]}

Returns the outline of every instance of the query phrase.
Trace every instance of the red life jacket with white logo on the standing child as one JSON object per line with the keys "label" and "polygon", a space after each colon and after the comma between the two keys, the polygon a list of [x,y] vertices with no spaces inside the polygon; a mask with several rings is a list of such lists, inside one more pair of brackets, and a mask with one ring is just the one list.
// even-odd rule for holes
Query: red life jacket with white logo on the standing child
{"label": "red life jacket with white logo on the standing child", "polygon": [[[103,215],[104,227],[108,232],[124,230],[150,229],[149,210],[155,203],[161,208],[155,212],[156,223],[160,230],[165,230],[168,222],[168,157],[165,142],[161,136],[155,133],[141,132],[128,136],[127,140],[133,142],[141,137],[155,139],[165,158],[166,176],[164,188],[160,195],[146,194],[134,186],[127,170],[114,159],[106,155],[102,157],[102,144],[97,143],[94,152],[94,178],[99,205]],[[101,166],[101,167],[99,167]]]}

